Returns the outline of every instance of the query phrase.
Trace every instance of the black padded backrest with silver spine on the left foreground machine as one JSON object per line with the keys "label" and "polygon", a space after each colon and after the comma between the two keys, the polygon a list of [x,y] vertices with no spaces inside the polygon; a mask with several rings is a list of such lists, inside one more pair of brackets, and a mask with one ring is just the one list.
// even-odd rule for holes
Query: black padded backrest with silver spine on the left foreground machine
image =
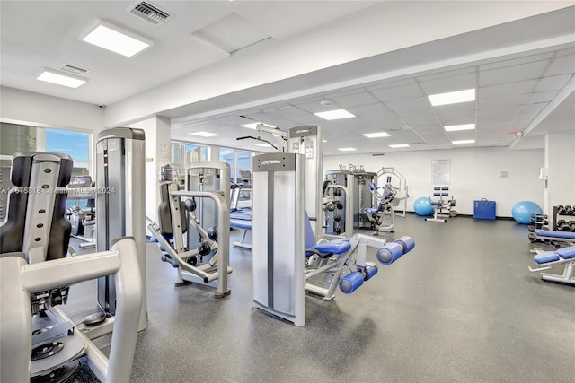
{"label": "black padded backrest with silver spine on the left foreground machine", "polygon": [[71,230],[66,220],[66,185],[73,167],[66,154],[14,154],[15,187],[0,223],[0,253],[25,253],[29,263],[66,257]]}

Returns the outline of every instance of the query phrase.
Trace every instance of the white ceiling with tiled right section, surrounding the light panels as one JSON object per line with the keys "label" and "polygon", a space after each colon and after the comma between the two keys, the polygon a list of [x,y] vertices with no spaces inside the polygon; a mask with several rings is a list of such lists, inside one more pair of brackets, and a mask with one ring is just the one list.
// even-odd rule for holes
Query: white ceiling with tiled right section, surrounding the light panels
{"label": "white ceiling with tiled right section, surrounding the light panels", "polygon": [[[358,15],[406,6],[400,3],[160,1],[151,4],[170,13],[170,18],[156,26],[128,12],[133,2],[3,1],[0,84],[105,104],[110,112],[127,109],[142,94],[162,98],[164,91],[167,98],[190,74],[202,74],[207,68],[229,71],[226,64],[242,55],[252,58],[255,68],[266,49],[305,41],[321,30],[343,28]],[[259,86],[236,86],[205,100],[175,103],[150,113],[172,118],[173,139],[254,151],[264,150],[256,146],[261,143],[236,141],[239,136],[258,135],[241,127],[250,122],[284,130],[321,125],[328,155],[350,146],[371,153],[543,147],[546,132],[575,129],[575,7],[565,4],[573,3],[385,54],[340,60]],[[96,20],[137,32],[153,40],[154,47],[126,60],[79,41],[78,36]],[[406,30],[415,37],[425,33],[415,26]],[[382,41],[393,38],[384,36]],[[322,45],[312,48],[309,57],[322,57]],[[57,69],[63,64],[88,70],[89,86],[70,91],[35,80],[42,67]],[[267,68],[272,74],[273,70],[273,65]],[[476,89],[477,100],[432,107],[427,98],[469,88]],[[325,100],[332,105],[325,106]],[[314,115],[332,109],[346,109],[356,117],[326,121]],[[443,128],[470,123],[476,125],[472,131],[446,132]],[[218,136],[190,135],[199,131]],[[364,136],[376,132],[390,136]],[[261,137],[273,140],[271,135]],[[475,143],[452,144],[464,139]],[[390,144],[410,146],[392,149]]]}

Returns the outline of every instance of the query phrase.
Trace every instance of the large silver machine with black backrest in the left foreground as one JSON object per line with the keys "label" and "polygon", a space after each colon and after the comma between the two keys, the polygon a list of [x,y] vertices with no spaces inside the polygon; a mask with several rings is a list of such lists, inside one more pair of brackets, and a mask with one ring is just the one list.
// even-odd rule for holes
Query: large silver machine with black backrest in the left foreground
{"label": "large silver machine with black backrest in the left foreground", "polygon": [[[134,239],[116,238],[106,251],[66,258],[71,226],[66,221],[66,185],[72,172],[66,154],[17,153],[13,158],[7,218],[0,224],[0,380],[70,377],[77,358],[102,381],[128,382],[144,306]],[[109,275],[117,304],[110,358],[57,305],[69,285]],[[110,276],[111,275],[111,276]],[[51,326],[41,326],[44,313]],[[34,332],[32,332],[34,330]]]}

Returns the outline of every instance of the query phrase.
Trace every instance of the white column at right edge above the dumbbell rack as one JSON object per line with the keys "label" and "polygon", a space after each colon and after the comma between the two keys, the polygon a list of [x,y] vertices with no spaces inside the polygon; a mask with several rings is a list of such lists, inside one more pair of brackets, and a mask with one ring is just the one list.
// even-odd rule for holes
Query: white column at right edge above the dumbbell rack
{"label": "white column at right edge above the dumbbell rack", "polygon": [[545,167],[548,181],[544,190],[544,213],[552,214],[555,205],[574,205],[575,130],[545,135]]}

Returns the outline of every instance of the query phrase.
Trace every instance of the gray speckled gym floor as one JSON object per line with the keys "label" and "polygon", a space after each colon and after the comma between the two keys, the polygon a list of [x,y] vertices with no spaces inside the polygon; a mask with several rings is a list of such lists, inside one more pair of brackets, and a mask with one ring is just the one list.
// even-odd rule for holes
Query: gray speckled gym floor
{"label": "gray speckled gym floor", "polygon": [[[149,326],[132,381],[575,379],[575,289],[527,270],[525,225],[408,215],[396,219],[393,238],[402,235],[416,248],[357,292],[308,296],[304,327],[252,309],[250,251],[233,248],[232,294],[216,300],[205,286],[173,287],[173,268],[147,244]],[[82,318],[94,300],[95,283],[77,285],[65,310]],[[110,338],[98,342],[107,352]]]}

